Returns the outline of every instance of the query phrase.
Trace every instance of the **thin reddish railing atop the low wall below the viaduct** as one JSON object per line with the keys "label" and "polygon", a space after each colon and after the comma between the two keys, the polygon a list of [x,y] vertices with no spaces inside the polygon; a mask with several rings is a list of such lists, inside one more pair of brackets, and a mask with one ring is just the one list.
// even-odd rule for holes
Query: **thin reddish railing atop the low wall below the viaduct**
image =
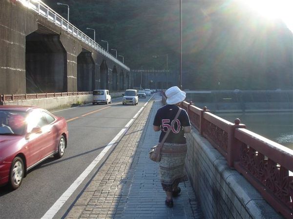
{"label": "thin reddish railing atop the low wall below the viaduct", "polygon": [[62,96],[77,96],[92,94],[92,91],[82,92],[59,92],[59,93],[26,93],[26,94],[1,94],[0,101],[14,101],[14,100],[31,100],[51,97],[62,97]]}

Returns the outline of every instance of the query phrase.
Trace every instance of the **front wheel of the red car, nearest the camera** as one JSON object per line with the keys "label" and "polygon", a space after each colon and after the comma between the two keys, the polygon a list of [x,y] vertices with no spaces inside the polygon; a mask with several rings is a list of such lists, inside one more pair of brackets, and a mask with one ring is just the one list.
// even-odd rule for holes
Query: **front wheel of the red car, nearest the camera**
{"label": "front wheel of the red car, nearest the camera", "polygon": [[20,157],[15,157],[10,167],[9,184],[12,189],[17,189],[21,186],[24,176],[24,165]]}

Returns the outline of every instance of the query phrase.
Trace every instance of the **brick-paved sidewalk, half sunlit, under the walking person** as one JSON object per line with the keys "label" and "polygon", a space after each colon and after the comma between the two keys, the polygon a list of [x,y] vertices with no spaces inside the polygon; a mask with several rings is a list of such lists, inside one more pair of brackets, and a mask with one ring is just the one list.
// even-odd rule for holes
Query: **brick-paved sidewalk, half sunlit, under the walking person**
{"label": "brick-paved sidewalk, half sunlit, under the walking person", "polygon": [[105,164],[74,203],[66,218],[201,219],[190,182],[180,183],[181,195],[174,207],[165,205],[166,194],[159,180],[159,164],[148,158],[159,132],[152,122],[162,106],[155,94],[127,130]]}

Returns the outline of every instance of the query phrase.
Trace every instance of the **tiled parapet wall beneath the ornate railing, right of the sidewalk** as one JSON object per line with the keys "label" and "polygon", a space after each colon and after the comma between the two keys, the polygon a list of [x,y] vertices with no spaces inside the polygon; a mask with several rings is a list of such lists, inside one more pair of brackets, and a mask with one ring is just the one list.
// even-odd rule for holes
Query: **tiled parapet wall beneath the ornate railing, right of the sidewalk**
{"label": "tiled parapet wall beneath the ornate railing, right of the sidewalk", "polygon": [[283,218],[196,129],[187,134],[187,141],[186,168],[205,218]]}

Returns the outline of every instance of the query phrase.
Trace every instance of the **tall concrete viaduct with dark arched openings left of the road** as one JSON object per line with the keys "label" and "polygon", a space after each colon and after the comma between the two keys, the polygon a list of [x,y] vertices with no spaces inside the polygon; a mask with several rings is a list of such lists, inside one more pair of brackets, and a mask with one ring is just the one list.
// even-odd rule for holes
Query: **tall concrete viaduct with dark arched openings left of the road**
{"label": "tall concrete viaduct with dark arched openings left of the road", "polygon": [[42,1],[0,1],[0,93],[131,88],[130,69]]}

